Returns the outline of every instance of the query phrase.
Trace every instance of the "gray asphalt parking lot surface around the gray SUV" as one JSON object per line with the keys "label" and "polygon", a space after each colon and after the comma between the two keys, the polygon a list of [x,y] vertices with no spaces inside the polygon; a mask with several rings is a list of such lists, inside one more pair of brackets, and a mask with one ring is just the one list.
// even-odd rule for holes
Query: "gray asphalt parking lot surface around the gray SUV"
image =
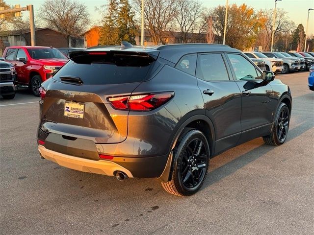
{"label": "gray asphalt parking lot surface around the gray SUV", "polygon": [[79,172],[39,157],[38,97],[0,100],[0,234],[314,234],[314,92],[309,72],[278,75],[293,96],[279,147],[262,138],[210,161],[197,194],[157,180]]}

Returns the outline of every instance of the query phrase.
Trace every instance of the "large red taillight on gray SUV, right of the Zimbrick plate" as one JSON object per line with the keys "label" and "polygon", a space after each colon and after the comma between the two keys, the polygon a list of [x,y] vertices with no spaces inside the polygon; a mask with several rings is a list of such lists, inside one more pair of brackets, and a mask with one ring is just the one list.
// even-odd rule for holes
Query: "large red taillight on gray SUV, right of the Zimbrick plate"
{"label": "large red taillight on gray SUV, right of the Zimbrick plate", "polygon": [[109,97],[107,100],[114,109],[130,111],[150,111],[168,102],[174,92],[138,94]]}

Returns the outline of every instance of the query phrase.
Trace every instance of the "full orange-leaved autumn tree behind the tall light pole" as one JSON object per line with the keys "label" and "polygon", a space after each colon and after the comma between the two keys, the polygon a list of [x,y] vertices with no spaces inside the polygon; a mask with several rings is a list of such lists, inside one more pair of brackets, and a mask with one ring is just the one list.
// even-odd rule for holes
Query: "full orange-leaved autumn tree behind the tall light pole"
{"label": "full orange-leaved autumn tree behind the tall light pole", "polygon": [[[213,22],[213,31],[218,36],[219,41],[223,41],[226,6],[217,6],[213,9],[212,15],[217,18]],[[264,18],[260,12],[255,12],[254,8],[242,4],[229,5],[228,20],[226,28],[226,44],[243,50],[251,47],[257,32],[262,27]]]}

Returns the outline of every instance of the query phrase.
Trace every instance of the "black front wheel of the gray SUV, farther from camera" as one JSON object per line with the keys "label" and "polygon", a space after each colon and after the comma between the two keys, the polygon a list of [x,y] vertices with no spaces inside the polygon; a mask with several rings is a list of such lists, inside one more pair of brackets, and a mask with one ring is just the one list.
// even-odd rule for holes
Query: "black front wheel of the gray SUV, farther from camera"
{"label": "black front wheel of the gray SUV, farther from camera", "polygon": [[264,136],[265,144],[279,146],[283,144],[288,135],[290,112],[285,103],[281,103],[276,112],[275,120],[270,135]]}

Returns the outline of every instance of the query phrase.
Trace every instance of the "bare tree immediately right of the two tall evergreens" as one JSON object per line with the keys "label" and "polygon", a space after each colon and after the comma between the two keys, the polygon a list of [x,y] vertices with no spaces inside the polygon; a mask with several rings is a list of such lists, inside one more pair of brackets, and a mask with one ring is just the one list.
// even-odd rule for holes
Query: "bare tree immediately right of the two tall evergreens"
{"label": "bare tree immediately right of the two tall evergreens", "polygon": [[[134,0],[136,9],[140,12],[142,0]],[[166,44],[167,35],[178,14],[177,0],[145,0],[144,18],[154,44]]]}

